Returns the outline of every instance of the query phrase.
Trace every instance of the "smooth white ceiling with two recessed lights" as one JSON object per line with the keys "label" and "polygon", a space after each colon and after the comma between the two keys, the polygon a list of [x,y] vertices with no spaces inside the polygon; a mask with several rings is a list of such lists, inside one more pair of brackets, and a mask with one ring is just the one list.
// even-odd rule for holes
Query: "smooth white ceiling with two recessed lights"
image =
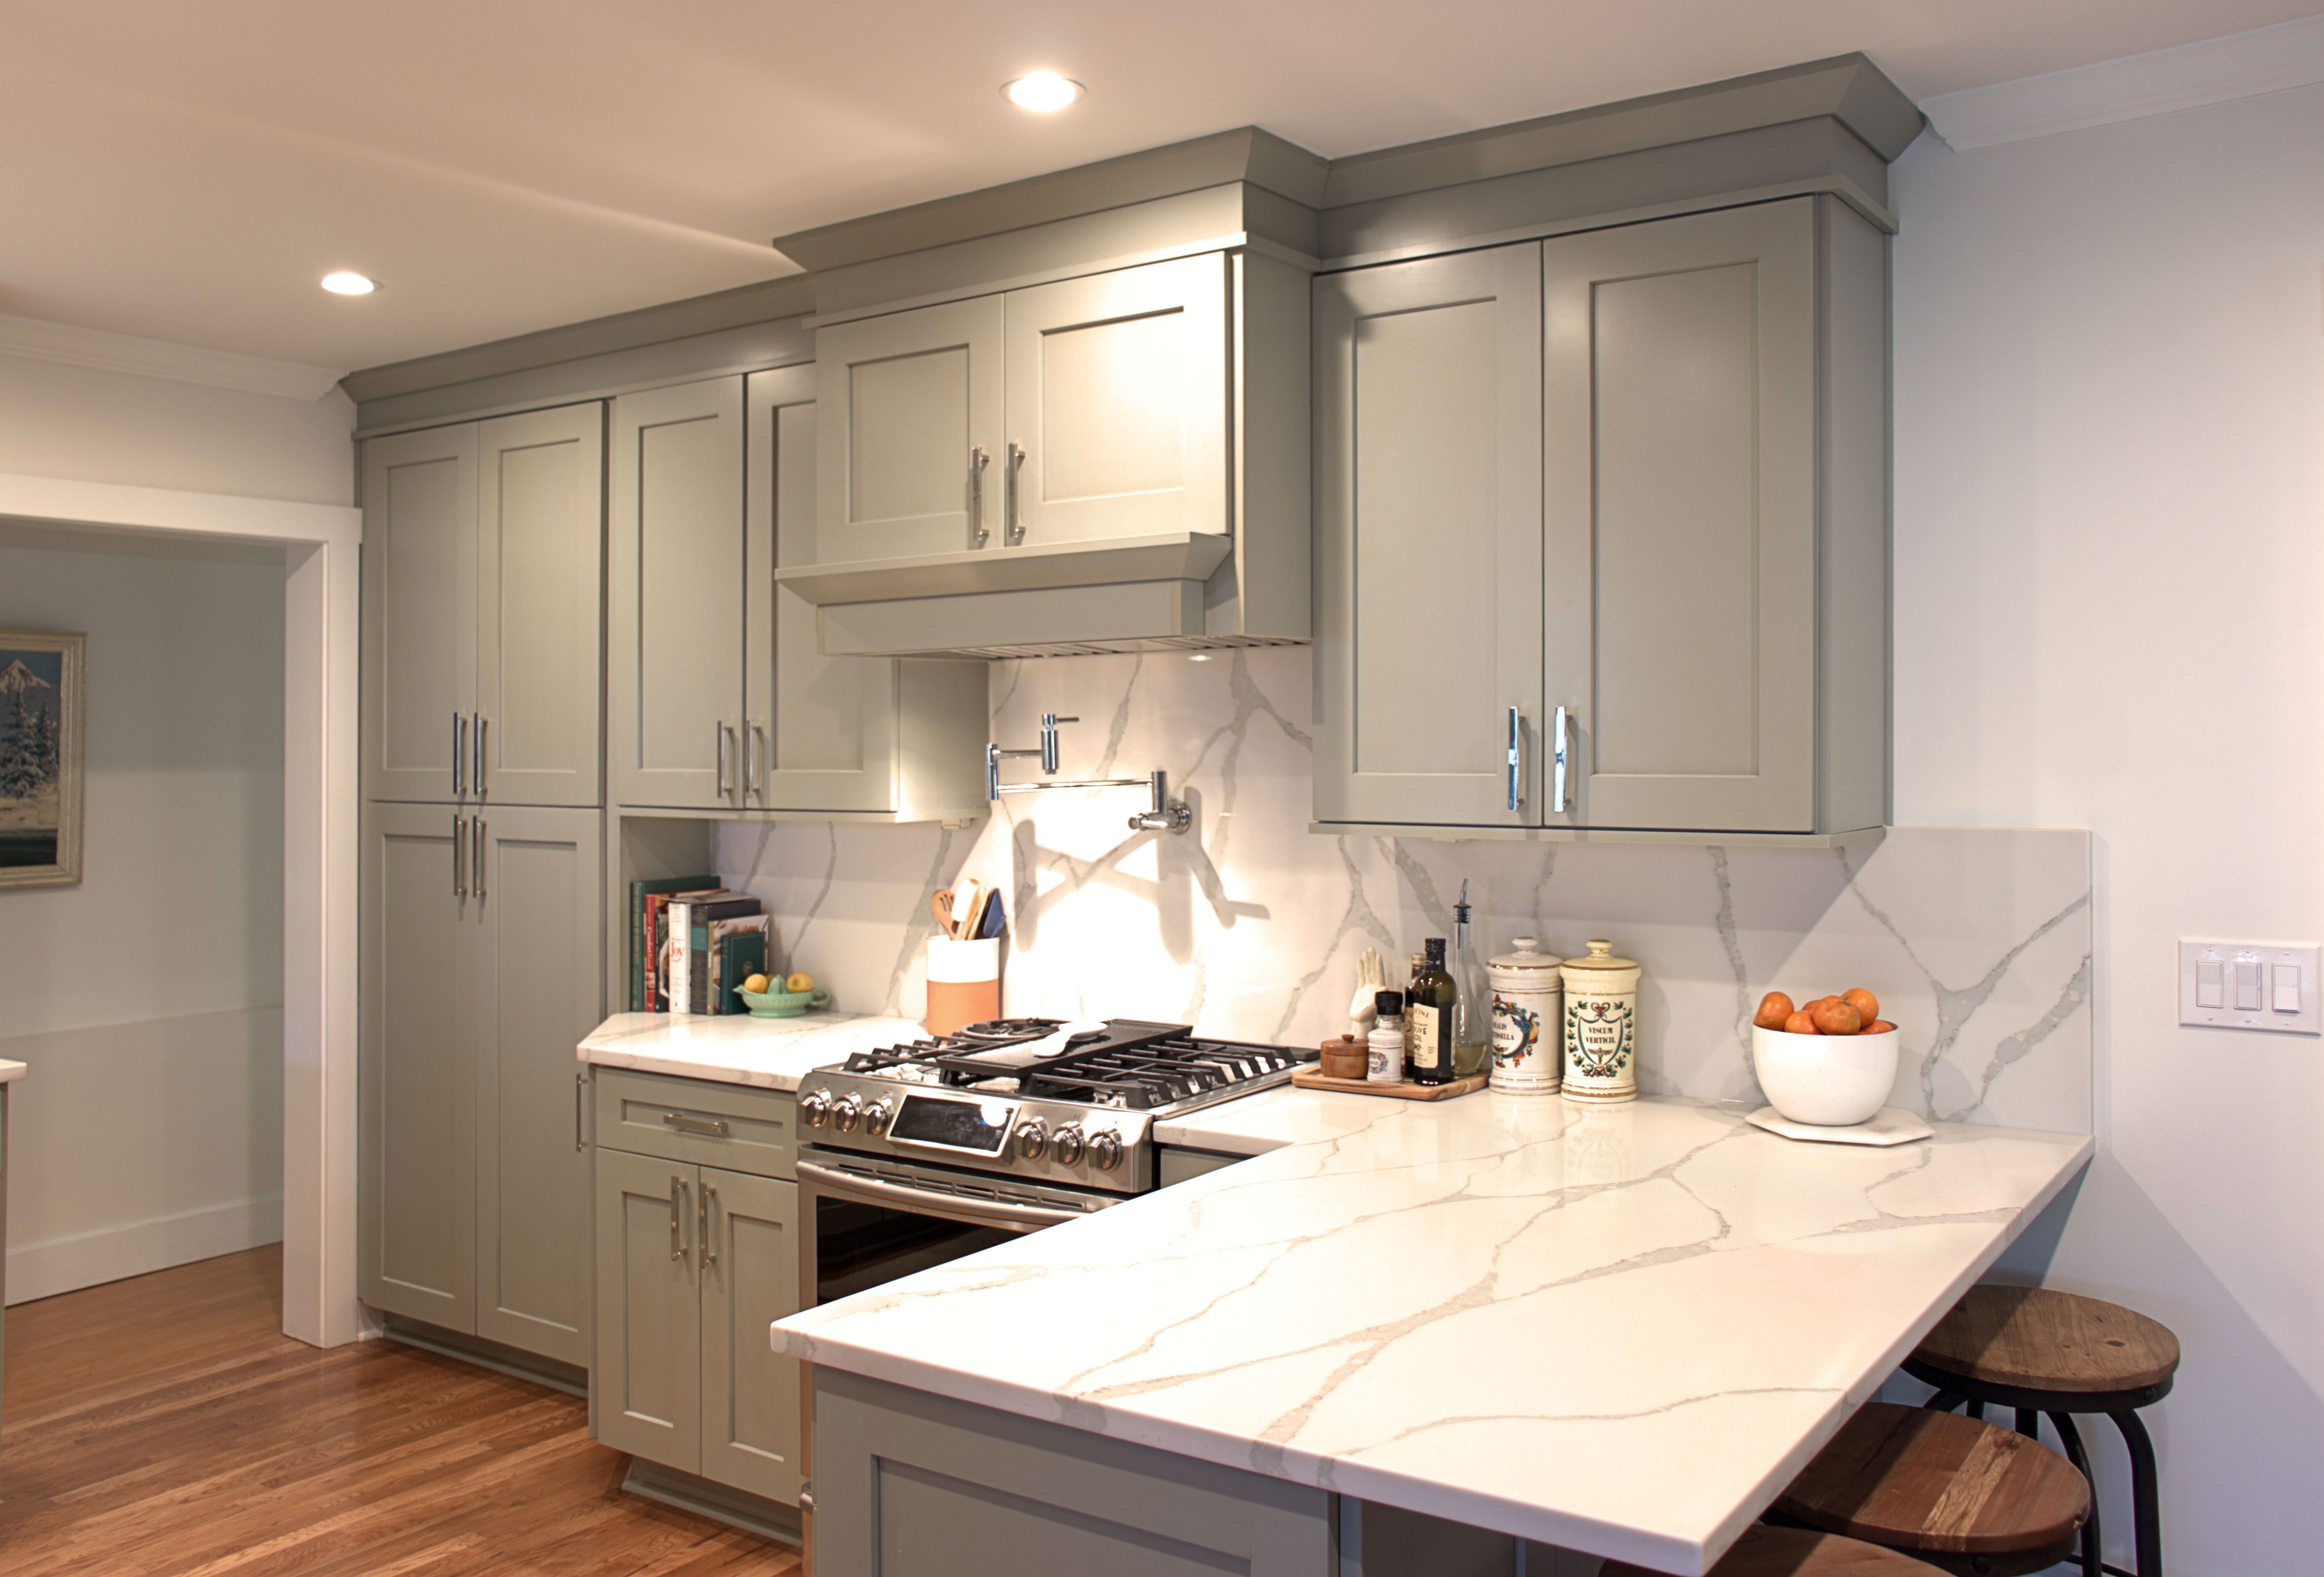
{"label": "smooth white ceiling with two recessed lights", "polygon": [[[1913,98],[2317,0],[0,0],[0,314],[323,367],[792,272],[1181,137],[1325,156],[1862,49]],[[999,84],[1090,86],[1032,116]],[[370,297],[316,288],[330,269]]]}

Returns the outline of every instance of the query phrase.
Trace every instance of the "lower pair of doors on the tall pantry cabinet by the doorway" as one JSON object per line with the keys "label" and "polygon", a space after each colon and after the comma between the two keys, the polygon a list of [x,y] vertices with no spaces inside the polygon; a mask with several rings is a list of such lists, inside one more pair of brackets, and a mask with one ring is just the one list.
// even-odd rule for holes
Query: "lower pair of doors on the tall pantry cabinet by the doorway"
{"label": "lower pair of doors on the tall pantry cabinet by the doorway", "polygon": [[363,815],[360,1296],[588,1363],[572,1047],[602,1017],[600,813]]}

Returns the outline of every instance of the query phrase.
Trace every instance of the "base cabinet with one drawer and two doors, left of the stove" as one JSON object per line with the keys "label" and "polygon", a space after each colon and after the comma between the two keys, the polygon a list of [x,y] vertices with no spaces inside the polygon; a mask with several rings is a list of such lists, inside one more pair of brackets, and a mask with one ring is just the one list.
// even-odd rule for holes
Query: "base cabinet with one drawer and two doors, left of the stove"
{"label": "base cabinet with one drawer and two doors, left of the stove", "polygon": [[[639,1110],[686,1126],[623,1119]],[[799,1363],[767,1342],[799,1308],[797,1184],[767,1175],[788,1143],[765,1143],[788,1112],[788,1094],[600,1073],[590,1387],[604,1445],[795,1505]],[[709,1152],[760,1171],[686,1159]]]}

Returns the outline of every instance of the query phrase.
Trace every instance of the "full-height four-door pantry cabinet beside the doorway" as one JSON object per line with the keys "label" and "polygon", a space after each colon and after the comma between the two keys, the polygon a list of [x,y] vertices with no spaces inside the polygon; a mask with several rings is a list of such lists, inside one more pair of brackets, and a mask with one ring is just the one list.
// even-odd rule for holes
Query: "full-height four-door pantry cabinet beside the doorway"
{"label": "full-height four-door pantry cabinet beside the doorway", "polygon": [[604,406],[363,448],[365,1303],[586,1366]]}

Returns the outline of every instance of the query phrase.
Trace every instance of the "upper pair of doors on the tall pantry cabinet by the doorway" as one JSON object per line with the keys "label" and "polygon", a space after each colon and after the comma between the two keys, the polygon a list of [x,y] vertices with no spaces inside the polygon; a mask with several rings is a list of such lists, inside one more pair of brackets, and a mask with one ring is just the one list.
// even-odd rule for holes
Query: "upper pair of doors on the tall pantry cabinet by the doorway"
{"label": "upper pair of doors on the tall pantry cabinet by the doorway", "polygon": [[370,799],[600,804],[604,406],[363,446]]}

